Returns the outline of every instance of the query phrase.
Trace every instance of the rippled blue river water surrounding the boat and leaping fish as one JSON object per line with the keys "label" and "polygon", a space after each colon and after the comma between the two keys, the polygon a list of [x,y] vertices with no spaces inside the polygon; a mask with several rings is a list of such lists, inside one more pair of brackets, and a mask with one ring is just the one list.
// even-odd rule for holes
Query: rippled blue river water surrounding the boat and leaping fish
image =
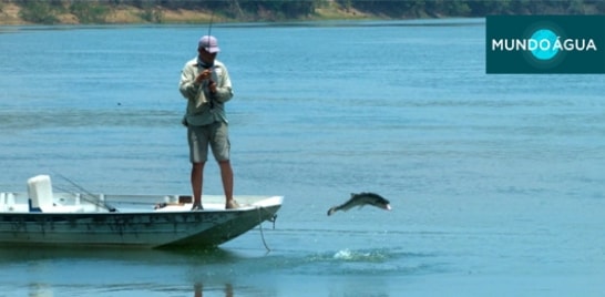
{"label": "rippled blue river water surrounding the boat and leaping fish", "polygon": [[[206,32],[0,28],[0,191],[189,193],[177,84]],[[275,228],[217,250],[3,248],[0,296],[605,294],[604,75],[488,75],[483,20],[212,32],[235,192],[284,195]],[[326,216],[358,192],[393,209]]]}

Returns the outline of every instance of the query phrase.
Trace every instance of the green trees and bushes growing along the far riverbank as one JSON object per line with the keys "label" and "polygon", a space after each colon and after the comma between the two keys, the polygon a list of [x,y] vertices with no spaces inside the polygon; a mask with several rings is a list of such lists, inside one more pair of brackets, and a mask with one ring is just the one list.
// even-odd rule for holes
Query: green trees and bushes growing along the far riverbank
{"label": "green trees and bushes growing along the far riverbank", "polygon": [[[603,14],[603,0],[4,0],[21,7],[21,18],[34,23],[58,22],[72,13],[82,23],[103,23],[112,8],[132,6],[141,18],[162,22],[162,9],[212,11],[235,21],[301,20],[317,9],[338,7],[379,18],[485,17],[488,14]],[[1,6],[1,4],[0,4]]]}

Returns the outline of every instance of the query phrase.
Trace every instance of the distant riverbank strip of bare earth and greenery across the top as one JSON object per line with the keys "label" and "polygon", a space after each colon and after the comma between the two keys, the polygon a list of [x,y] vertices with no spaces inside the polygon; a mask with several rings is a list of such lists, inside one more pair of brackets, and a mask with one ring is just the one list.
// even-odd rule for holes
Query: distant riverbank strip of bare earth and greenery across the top
{"label": "distant riverbank strip of bare earth and greenery across the top", "polygon": [[[314,0],[302,7],[239,7],[240,0],[233,0],[236,8],[222,6],[154,4],[152,1],[25,1],[0,0],[0,25],[78,25],[78,24],[202,24],[208,23],[254,23],[254,22],[306,22],[349,20],[439,20],[448,18],[484,18],[490,14],[603,14],[605,6],[591,0],[573,0],[575,4],[562,4],[550,0],[532,2],[488,2],[472,0],[410,1],[406,6],[390,1]],[[515,0],[521,1],[521,0]],[[129,3],[136,3],[129,4]],[[176,2],[176,1],[175,1]],[[268,1],[273,3],[271,1]],[[288,0],[275,0],[285,3]],[[296,1],[293,1],[296,2]],[[342,3],[345,4],[342,4]],[[355,4],[351,4],[355,2]],[[187,4],[189,3],[189,4]],[[228,2],[230,3],[230,2]],[[291,2],[290,2],[291,3]],[[368,4],[369,3],[369,4]],[[495,2],[494,2],[495,3]],[[509,3],[509,4],[506,4]],[[513,4],[515,3],[515,4]],[[455,6],[453,6],[455,4]],[[453,7],[452,7],[453,6]]]}

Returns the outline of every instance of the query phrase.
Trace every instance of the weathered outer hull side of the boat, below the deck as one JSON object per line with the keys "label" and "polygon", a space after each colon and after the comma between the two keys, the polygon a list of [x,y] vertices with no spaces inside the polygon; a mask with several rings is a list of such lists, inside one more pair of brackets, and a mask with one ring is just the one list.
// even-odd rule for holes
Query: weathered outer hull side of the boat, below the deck
{"label": "weathered outer hull side of the boat, below the deck", "polygon": [[188,205],[154,212],[7,212],[0,213],[0,245],[216,247],[273,219],[281,197],[269,201],[201,212],[184,211]]}

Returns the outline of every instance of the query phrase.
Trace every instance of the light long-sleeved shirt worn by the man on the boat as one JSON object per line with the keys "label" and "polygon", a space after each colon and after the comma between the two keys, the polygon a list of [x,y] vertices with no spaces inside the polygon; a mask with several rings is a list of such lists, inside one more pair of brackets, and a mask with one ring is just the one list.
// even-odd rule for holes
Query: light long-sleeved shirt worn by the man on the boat
{"label": "light long-sleeved shirt worn by the man on the boat", "polygon": [[195,78],[204,71],[204,63],[198,59],[192,59],[185,63],[181,72],[178,90],[187,100],[185,120],[187,124],[201,126],[217,121],[227,123],[225,102],[233,98],[232,81],[227,68],[215,60],[212,70],[212,80],[216,83],[216,92],[211,93],[208,82],[196,83]]}

